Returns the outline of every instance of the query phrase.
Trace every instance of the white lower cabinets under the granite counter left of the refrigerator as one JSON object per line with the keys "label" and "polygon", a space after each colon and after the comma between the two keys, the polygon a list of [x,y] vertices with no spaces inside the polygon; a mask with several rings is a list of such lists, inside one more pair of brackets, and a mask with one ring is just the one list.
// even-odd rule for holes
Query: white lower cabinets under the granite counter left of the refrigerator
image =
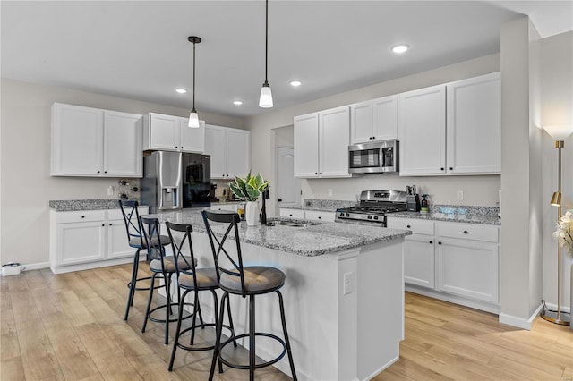
{"label": "white lower cabinets under the granite counter left of the refrigerator", "polygon": [[[140,207],[139,213],[149,213]],[[121,210],[50,211],[50,268],[54,274],[132,260]]]}

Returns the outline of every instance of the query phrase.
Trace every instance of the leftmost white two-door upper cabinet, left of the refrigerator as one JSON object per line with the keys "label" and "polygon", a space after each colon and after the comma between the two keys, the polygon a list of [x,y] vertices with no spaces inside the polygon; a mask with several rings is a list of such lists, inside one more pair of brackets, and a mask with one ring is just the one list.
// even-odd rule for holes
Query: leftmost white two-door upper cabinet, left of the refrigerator
{"label": "leftmost white two-door upper cabinet, left of the refrigerator", "polygon": [[55,103],[51,174],[141,177],[141,115]]}

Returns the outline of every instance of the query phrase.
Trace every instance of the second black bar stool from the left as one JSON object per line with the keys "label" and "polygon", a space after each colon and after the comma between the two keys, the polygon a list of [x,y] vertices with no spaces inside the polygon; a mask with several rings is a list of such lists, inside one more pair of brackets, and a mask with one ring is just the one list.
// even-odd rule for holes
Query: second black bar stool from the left
{"label": "second black bar stool from the left", "polygon": [[[169,323],[177,321],[177,317],[170,318],[173,315],[173,306],[179,306],[181,301],[181,293],[177,287],[177,302],[173,302],[171,297],[171,277],[179,275],[181,270],[188,270],[192,268],[191,257],[185,257],[182,253],[173,253],[173,256],[166,256],[165,245],[160,241],[159,234],[159,220],[154,217],[140,216],[141,227],[147,225],[148,229],[141,229],[147,249],[147,255],[150,258],[150,271],[151,284],[150,284],[150,297],[147,301],[147,309],[145,309],[145,320],[141,327],[141,333],[145,332],[148,320],[155,323],[165,324],[165,340],[164,343],[169,343]],[[194,265],[194,264],[193,264]],[[151,309],[151,301],[153,300],[153,290],[155,289],[155,278],[157,275],[162,275],[165,282],[166,304]],[[185,305],[191,305],[184,303]],[[154,318],[151,314],[158,309],[165,309],[165,318]],[[191,318],[191,314],[187,314],[185,318]]]}

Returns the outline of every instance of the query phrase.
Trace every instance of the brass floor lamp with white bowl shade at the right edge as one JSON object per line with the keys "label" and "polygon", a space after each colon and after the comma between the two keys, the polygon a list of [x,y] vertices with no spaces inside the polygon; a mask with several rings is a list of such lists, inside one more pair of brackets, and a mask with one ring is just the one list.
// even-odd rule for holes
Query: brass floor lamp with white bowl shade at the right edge
{"label": "brass floor lamp with white bowl shade at the right edge", "polygon": [[[551,205],[557,207],[557,222],[561,218],[561,148],[565,147],[565,141],[573,132],[572,126],[550,125],[544,126],[543,129],[555,140],[555,148],[558,150],[557,166],[557,191],[553,192]],[[557,310],[545,308],[543,301],[543,311],[541,317],[560,326],[569,326],[571,315],[567,312],[561,312],[561,246],[557,243]]]}

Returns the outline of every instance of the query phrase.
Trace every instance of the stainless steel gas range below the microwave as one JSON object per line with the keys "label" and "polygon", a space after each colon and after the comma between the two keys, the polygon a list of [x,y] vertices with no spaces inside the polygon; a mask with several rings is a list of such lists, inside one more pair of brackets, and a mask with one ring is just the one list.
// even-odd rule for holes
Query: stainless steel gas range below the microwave
{"label": "stainless steel gas range below the microwave", "polygon": [[363,190],[355,207],[337,209],[336,221],[386,227],[387,214],[407,209],[406,196],[401,190]]}

